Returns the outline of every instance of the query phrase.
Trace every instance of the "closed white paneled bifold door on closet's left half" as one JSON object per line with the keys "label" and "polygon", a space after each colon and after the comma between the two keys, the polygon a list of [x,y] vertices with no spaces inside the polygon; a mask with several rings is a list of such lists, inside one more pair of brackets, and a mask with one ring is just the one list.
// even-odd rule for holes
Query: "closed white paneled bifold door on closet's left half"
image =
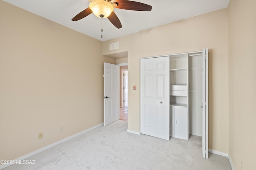
{"label": "closed white paneled bifold door on closet's left half", "polygon": [[141,133],[169,140],[169,57],[141,59]]}

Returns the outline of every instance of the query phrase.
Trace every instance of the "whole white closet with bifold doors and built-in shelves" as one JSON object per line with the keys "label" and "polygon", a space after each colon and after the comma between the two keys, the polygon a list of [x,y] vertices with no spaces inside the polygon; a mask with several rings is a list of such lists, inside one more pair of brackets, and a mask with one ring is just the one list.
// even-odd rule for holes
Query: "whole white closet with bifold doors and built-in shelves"
{"label": "whole white closet with bifold doors and built-in shelves", "polygon": [[[208,157],[208,49],[140,59],[141,133],[202,136]],[[207,153],[206,153],[207,152]]]}

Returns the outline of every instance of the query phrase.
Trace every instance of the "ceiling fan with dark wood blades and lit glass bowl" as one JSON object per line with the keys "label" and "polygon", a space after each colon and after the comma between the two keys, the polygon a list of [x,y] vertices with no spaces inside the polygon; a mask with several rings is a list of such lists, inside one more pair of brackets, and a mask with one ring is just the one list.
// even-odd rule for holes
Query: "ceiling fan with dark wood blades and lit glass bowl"
{"label": "ceiling fan with dark wood blades and lit glass bowl", "polygon": [[152,6],[130,0],[89,0],[89,8],[86,8],[77,14],[72,21],[78,21],[82,18],[94,13],[99,18],[108,18],[108,20],[118,29],[122,28],[122,24],[116,14],[114,8],[134,11],[151,11]]}

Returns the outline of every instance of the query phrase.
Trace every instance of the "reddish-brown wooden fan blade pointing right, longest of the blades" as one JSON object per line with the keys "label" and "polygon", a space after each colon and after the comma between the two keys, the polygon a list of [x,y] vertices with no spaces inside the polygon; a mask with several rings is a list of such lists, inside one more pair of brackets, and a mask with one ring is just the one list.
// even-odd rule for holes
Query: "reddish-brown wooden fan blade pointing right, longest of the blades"
{"label": "reddish-brown wooden fan blade pointing right, longest of the blades", "polygon": [[111,3],[116,3],[115,8],[120,8],[124,10],[134,10],[134,11],[151,11],[152,6],[143,4],[141,2],[134,2],[130,0],[111,0]]}

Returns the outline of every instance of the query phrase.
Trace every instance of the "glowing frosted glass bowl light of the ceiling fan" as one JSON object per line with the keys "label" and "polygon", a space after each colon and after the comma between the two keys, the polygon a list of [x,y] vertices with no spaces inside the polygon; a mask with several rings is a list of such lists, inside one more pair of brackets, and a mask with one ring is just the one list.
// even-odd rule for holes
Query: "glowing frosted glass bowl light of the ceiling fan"
{"label": "glowing frosted glass bowl light of the ceiling fan", "polygon": [[89,8],[98,18],[107,18],[114,10],[114,6],[106,0],[93,0],[90,2]]}

